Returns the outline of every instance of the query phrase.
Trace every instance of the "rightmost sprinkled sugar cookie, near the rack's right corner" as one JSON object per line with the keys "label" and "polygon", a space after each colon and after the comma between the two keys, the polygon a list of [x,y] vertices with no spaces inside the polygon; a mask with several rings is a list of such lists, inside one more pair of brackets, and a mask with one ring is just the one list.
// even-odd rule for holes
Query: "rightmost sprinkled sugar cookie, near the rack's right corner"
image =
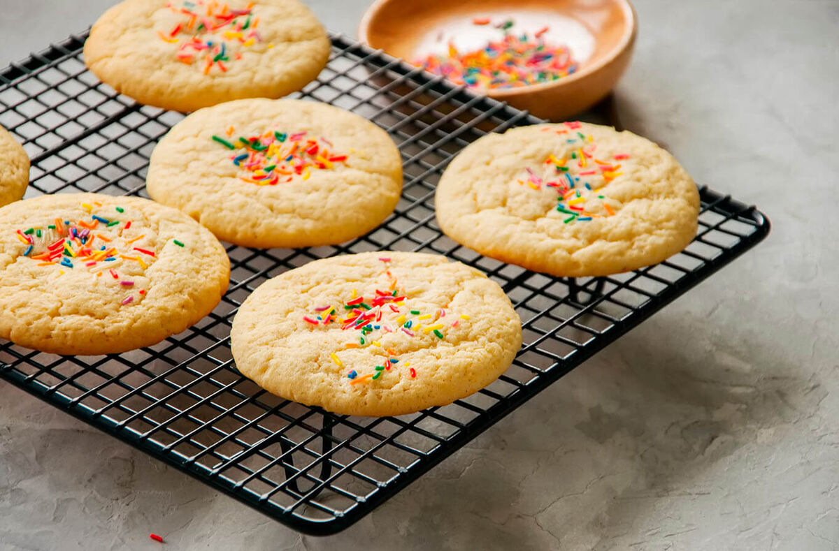
{"label": "rightmost sprinkled sugar cookie, near the rack's right corner", "polygon": [[461,245],[569,277],[675,255],[699,215],[696,185],[670,153],[581,122],[483,136],[446,168],[435,201],[440,229]]}

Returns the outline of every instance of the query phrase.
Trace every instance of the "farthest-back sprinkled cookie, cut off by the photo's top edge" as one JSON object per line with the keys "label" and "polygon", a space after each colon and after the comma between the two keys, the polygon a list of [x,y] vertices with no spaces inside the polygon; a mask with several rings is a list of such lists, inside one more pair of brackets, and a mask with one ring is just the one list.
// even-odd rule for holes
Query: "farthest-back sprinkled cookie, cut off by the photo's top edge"
{"label": "farthest-back sprinkled cookie, cut off by the photo's top edge", "polygon": [[297,0],[125,0],[91,28],[85,64],[140,103],[195,111],[300,90],[329,50]]}

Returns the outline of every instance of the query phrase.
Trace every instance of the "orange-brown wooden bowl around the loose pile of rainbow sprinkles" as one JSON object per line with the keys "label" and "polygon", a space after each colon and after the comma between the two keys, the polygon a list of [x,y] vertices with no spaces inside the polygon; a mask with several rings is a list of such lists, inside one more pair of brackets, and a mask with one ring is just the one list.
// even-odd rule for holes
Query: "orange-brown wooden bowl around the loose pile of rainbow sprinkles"
{"label": "orange-brown wooden bowl around the loose pile of rainbow sprinkles", "polygon": [[[568,44],[580,62],[576,72],[544,84],[474,90],[552,120],[565,120],[612,90],[629,64],[637,29],[628,0],[376,0],[358,38],[411,62],[427,54],[430,44],[463,37],[473,19],[487,17],[558,28],[554,41]],[[516,30],[532,35],[538,28]]]}

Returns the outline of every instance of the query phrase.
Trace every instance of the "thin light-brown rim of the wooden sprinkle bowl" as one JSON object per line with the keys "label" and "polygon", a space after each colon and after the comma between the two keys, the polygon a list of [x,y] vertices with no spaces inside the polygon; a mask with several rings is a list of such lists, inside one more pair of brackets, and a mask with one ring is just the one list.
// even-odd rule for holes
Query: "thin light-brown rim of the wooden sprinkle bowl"
{"label": "thin light-brown rim of the wooden sprinkle bowl", "polygon": [[[373,49],[378,49],[377,47],[373,46],[373,44],[370,44],[369,38],[367,36],[367,29],[370,28],[370,22],[373,20],[373,18],[376,15],[378,15],[378,13],[386,4],[391,2],[394,2],[394,0],[374,0],[374,2],[370,4],[370,7],[367,8],[367,11],[364,12],[361,21],[358,23],[357,33],[359,42],[361,42],[362,44],[367,44],[367,46]],[[529,94],[531,92],[539,92],[541,90],[548,90],[550,88],[567,85],[570,83],[574,83],[577,80],[582,80],[586,78],[586,76],[597,73],[597,71],[602,70],[602,68],[607,66],[607,64],[610,64],[612,63],[612,61],[617,59],[620,54],[623,54],[623,52],[626,51],[633,44],[635,36],[638,33],[638,15],[635,13],[635,8],[633,7],[632,3],[629,0],[612,0],[612,2],[616,2],[621,6],[621,8],[623,9],[623,16],[628,22],[628,24],[625,25],[623,36],[618,41],[618,44],[616,44],[613,49],[611,49],[609,52],[607,52],[606,55],[599,59],[597,63],[591,64],[587,66],[585,69],[576,71],[573,75],[565,76],[561,79],[553,80],[551,82],[543,82],[535,85],[526,85],[521,86],[519,88],[501,88],[498,90],[475,90],[472,88],[467,88],[465,85],[464,88],[466,90],[477,91],[482,95],[488,95],[492,98],[503,99],[510,96]],[[385,52],[385,54],[387,53],[388,52]],[[407,59],[404,59],[404,62],[411,64]]]}

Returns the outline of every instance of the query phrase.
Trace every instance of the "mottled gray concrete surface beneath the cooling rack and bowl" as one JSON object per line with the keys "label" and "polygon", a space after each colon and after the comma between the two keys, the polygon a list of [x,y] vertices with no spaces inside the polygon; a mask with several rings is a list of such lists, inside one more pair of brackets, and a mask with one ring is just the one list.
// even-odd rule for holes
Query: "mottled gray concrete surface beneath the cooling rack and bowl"
{"label": "mottled gray concrete surface beneath the cooling rack and bowl", "polygon": [[[2,61],[108,0],[3,0]],[[310,2],[352,33],[362,0]],[[769,239],[331,538],[0,384],[0,547],[839,548],[839,3],[638,0],[627,126]]]}

